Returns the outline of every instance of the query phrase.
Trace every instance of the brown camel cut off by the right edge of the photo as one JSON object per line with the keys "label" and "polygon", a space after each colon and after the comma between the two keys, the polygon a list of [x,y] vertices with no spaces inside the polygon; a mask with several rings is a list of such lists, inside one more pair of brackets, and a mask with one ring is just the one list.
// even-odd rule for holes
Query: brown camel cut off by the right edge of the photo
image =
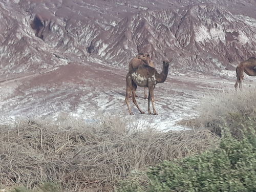
{"label": "brown camel cut off by the right edge of the photo", "polygon": [[237,67],[237,81],[236,84],[234,84],[234,89],[238,89],[238,83],[239,83],[239,89],[242,91],[242,81],[244,78],[244,72],[249,76],[256,76],[256,58],[250,57],[249,59],[242,61],[239,63]]}

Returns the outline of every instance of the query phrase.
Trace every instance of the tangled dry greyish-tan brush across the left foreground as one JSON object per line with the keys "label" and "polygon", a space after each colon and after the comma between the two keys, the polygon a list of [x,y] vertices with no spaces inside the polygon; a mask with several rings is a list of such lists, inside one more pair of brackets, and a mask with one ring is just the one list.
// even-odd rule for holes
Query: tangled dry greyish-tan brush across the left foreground
{"label": "tangled dry greyish-tan brush across the left foreground", "polygon": [[112,116],[95,123],[61,117],[1,125],[0,188],[35,190],[50,182],[62,191],[112,191],[134,170],[198,154],[218,141],[209,131],[162,133],[125,126]]}

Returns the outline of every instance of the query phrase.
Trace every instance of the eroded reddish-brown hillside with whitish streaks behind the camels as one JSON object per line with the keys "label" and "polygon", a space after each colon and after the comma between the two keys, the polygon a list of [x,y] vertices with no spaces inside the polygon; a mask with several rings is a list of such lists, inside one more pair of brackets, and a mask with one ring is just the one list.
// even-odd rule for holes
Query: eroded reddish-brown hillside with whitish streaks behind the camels
{"label": "eroded reddish-brown hillside with whitish streaks behind the camels", "polygon": [[138,52],[179,68],[232,69],[255,54],[254,1],[197,2],[4,1],[1,75],[92,57],[122,68]]}

